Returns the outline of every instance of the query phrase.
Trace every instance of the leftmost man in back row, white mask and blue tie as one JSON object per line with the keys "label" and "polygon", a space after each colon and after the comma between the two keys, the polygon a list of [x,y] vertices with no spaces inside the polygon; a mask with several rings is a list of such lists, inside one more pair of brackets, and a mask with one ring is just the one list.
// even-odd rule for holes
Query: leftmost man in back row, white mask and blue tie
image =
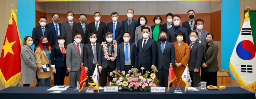
{"label": "leftmost man in back row, white mask and blue tie", "polygon": [[[46,36],[49,39],[49,44],[52,44],[53,42],[53,34],[52,30],[48,27],[46,27],[47,24],[47,17],[42,16],[39,20],[40,25],[38,27],[33,28],[32,31],[32,38],[34,40],[35,48],[39,45],[40,39],[43,36]],[[35,51],[35,49],[34,49]]]}

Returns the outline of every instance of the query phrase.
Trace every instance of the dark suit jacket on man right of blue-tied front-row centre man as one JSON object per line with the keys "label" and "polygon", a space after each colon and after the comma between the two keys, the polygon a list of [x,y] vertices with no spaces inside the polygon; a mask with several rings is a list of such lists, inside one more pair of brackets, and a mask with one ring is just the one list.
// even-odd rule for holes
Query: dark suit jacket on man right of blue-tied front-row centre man
{"label": "dark suit jacket on man right of blue-tied front-row centre man", "polygon": [[[142,40],[144,38],[138,40],[137,44],[137,50],[138,50],[138,67],[140,66],[140,63],[142,64],[142,67],[145,69],[148,69],[151,67],[151,65],[156,66],[156,59],[157,59],[157,45],[154,39],[149,38],[145,48],[142,49]],[[138,68],[135,67],[135,68]]]}

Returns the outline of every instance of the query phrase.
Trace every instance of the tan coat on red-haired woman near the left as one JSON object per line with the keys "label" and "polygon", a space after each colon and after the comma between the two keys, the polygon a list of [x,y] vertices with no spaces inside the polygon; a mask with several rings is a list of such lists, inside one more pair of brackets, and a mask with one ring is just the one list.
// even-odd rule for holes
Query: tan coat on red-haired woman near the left
{"label": "tan coat on red-haired woman near the left", "polygon": [[[49,52],[51,53],[51,50],[49,50]],[[37,68],[42,67],[42,65],[44,65],[44,64],[49,64],[49,60],[46,56],[46,53],[43,50],[41,50],[40,47],[36,48],[35,54],[36,54]],[[40,70],[42,70],[42,68]],[[51,77],[51,79],[54,79],[52,70],[53,70],[52,67],[50,67],[50,71],[48,71],[48,72],[40,73],[39,70],[37,70],[38,78],[49,78],[49,77]]]}

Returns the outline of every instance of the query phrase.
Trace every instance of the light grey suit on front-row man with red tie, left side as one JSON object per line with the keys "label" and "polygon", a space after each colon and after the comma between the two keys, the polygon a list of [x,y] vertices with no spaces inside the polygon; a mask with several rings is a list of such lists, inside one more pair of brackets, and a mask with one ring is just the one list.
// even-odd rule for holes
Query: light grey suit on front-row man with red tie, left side
{"label": "light grey suit on front-row man with red tie, left side", "polygon": [[80,48],[81,48],[80,49],[81,54],[79,54],[79,51],[75,42],[67,45],[66,66],[67,68],[71,68],[70,77],[69,77],[70,87],[74,87],[74,83],[76,86],[77,84],[76,82],[79,81],[79,78],[80,78],[84,44],[80,43]]}

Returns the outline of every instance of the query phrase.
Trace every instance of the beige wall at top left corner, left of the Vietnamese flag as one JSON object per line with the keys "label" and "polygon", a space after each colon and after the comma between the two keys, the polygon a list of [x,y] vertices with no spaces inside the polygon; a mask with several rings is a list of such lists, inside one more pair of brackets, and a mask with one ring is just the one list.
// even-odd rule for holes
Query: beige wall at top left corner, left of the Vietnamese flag
{"label": "beige wall at top left corner, left of the Vietnamese flag", "polygon": [[[0,53],[2,53],[2,45],[4,44],[5,34],[11,17],[12,4],[14,9],[17,10],[17,0],[0,0]],[[2,85],[2,82],[0,82],[0,86]]]}

